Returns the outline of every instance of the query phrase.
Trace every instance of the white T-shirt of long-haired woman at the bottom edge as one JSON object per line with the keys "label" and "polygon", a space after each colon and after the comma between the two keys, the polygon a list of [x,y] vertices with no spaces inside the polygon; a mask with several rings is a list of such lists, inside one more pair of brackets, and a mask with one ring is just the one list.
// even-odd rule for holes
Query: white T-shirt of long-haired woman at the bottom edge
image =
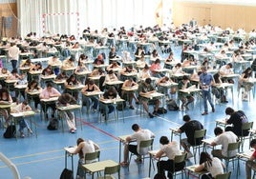
{"label": "white T-shirt of long-haired woman at the bottom edge", "polygon": [[216,177],[217,174],[224,173],[222,161],[219,158],[213,157],[211,164],[212,165],[210,165],[207,162],[204,162],[204,168],[207,169],[207,171],[209,171],[214,178]]}

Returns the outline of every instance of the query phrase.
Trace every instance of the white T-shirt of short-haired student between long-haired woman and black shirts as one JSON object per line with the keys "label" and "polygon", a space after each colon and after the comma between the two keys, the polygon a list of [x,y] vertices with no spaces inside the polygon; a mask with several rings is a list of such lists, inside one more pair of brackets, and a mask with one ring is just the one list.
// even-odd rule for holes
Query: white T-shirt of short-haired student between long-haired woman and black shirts
{"label": "white T-shirt of short-haired student between long-haired woman and black shirts", "polygon": [[[235,143],[237,142],[237,136],[235,133],[233,133],[232,131],[225,131],[224,133],[222,133],[221,135],[219,135],[218,137],[216,137],[214,139],[214,142],[218,145],[222,145],[222,154],[224,156],[227,156],[227,147],[229,143]],[[237,149],[236,150],[232,150],[229,153],[229,156],[235,156],[237,153]]]}

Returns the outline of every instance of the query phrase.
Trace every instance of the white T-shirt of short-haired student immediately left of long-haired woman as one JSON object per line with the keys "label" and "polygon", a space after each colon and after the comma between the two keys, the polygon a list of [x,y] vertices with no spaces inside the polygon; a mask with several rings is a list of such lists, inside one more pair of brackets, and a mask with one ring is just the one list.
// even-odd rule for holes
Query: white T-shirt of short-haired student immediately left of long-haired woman
{"label": "white T-shirt of short-haired student immediately left of long-haired woman", "polygon": [[168,159],[174,160],[176,155],[181,155],[181,149],[176,141],[163,145],[161,150],[166,154]]}

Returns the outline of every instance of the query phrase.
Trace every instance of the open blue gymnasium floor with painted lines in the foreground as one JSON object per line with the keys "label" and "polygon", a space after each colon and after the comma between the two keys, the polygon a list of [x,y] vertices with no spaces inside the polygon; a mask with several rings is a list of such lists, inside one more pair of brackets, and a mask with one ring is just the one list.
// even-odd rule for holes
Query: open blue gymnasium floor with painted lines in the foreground
{"label": "open blue gymnasium floor with painted lines in the foreground", "polygon": [[[75,134],[68,132],[67,127],[65,127],[64,132],[62,132],[61,129],[48,130],[48,121],[41,120],[39,114],[36,114],[37,138],[34,134],[33,136],[18,138],[17,140],[14,138],[4,139],[3,137],[0,137],[0,151],[7,155],[16,165],[21,178],[30,176],[32,179],[57,179],[59,178],[62,169],[65,168],[65,152],[63,148],[74,146],[78,137],[92,139],[100,146],[100,160],[112,159],[118,162],[119,143],[117,137],[120,135],[131,134],[133,132],[131,126],[134,123],[138,123],[143,129],[151,129],[156,134],[154,149],[159,149],[160,136],[166,135],[170,137],[171,133],[169,129],[180,127],[183,124],[182,116],[186,113],[189,114],[192,119],[197,119],[202,122],[204,128],[207,129],[206,137],[214,136],[213,129],[215,128],[215,120],[226,117],[224,114],[224,109],[226,107],[245,110],[245,114],[249,121],[253,121],[255,118],[255,101],[252,99],[250,102],[243,102],[241,96],[238,99],[237,92],[235,90],[234,92],[233,102],[229,91],[229,103],[217,104],[216,112],[210,112],[205,116],[201,115],[201,112],[203,111],[203,102],[200,103],[199,100],[197,100],[194,107],[187,112],[181,110],[168,111],[168,113],[153,119],[148,118],[146,115],[140,117],[139,114],[136,113],[136,109],[125,109],[124,122],[121,119],[115,121],[113,114],[111,114],[111,119],[107,124],[98,123],[96,113],[87,115],[86,112],[84,112],[82,119],[76,119],[82,121],[83,129],[81,130],[78,126]],[[202,104],[202,107],[200,104]],[[78,122],[78,124],[80,123]],[[0,129],[1,136],[3,132],[4,129]],[[175,138],[175,140],[178,141],[178,138]],[[247,149],[247,143],[245,143],[245,149]],[[74,159],[76,173],[78,156],[75,156]],[[71,169],[70,161],[71,160],[68,160],[69,169]],[[138,165],[132,160],[129,171],[127,168],[121,168],[121,178],[142,179],[148,177],[148,164],[149,160],[145,160],[143,165]],[[193,164],[194,161],[192,159],[187,160],[187,166]],[[229,170],[233,171],[232,165],[229,165]],[[241,171],[242,173],[239,178],[245,178],[244,162],[241,164]],[[155,173],[156,170],[152,169],[151,178],[153,178]],[[232,173],[231,178],[235,178],[235,176],[235,173]],[[0,162],[0,179],[11,178],[13,178],[11,170],[7,168],[5,164]],[[88,178],[90,178],[89,175]],[[180,176],[178,178],[180,178]]]}

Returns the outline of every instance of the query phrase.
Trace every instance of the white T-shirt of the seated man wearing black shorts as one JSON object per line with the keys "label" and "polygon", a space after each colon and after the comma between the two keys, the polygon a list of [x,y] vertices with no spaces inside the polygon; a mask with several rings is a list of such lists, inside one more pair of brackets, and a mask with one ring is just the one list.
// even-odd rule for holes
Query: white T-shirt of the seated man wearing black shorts
{"label": "white T-shirt of the seated man wearing black shorts", "polygon": [[149,140],[149,139],[153,138],[154,136],[155,136],[155,134],[152,131],[150,131],[149,129],[139,129],[139,131],[137,131],[133,135],[131,135],[131,139],[137,141],[137,144],[138,144],[137,152],[139,154],[146,154],[149,150],[147,148],[143,148],[143,149],[139,150],[140,141]]}

